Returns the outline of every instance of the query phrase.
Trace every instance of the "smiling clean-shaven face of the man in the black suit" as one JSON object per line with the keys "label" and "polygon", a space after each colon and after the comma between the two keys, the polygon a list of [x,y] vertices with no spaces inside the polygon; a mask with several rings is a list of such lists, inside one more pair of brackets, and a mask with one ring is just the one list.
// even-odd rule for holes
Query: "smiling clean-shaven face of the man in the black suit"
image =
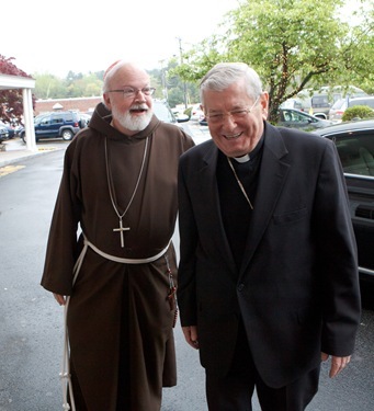
{"label": "smiling clean-shaven face of the man in the black suit", "polygon": [[[256,99],[248,95],[243,80],[223,91],[204,90],[202,107],[207,115],[211,136],[220,151],[228,157],[241,157],[253,150],[263,133],[268,100],[268,93],[263,92],[256,103]],[[249,109],[249,113],[243,113]],[[209,119],[209,115],[213,118]]]}

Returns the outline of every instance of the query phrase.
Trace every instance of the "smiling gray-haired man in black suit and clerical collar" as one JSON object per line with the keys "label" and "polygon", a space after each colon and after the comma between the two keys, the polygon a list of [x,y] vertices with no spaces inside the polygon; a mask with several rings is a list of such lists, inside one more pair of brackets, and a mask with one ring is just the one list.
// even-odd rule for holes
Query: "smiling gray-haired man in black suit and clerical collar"
{"label": "smiling gray-haired man in black suit and clerical collar", "polygon": [[335,145],[265,119],[245,64],[202,80],[212,140],[180,160],[178,301],[211,411],[301,411],[350,362],[360,321],[356,248]]}

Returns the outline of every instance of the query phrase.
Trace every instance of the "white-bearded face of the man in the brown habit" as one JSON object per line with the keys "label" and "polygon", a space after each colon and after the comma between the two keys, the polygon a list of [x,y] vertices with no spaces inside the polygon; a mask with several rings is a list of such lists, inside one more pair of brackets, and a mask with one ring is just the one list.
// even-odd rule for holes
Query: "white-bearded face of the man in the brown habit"
{"label": "white-bearded face of the man in the brown habit", "polygon": [[149,76],[135,65],[122,65],[109,81],[107,90],[137,90],[134,96],[125,96],[123,92],[104,92],[104,102],[112,112],[114,128],[132,136],[145,129],[152,117],[152,98],[140,90],[149,87]]}

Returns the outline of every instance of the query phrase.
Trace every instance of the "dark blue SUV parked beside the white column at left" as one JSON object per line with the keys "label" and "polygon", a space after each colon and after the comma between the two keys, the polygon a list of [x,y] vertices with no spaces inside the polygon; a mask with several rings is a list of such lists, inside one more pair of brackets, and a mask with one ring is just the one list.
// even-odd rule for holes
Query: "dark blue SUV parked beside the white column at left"
{"label": "dark blue SUV parked beside the white column at left", "polygon": [[[82,122],[79,113],[53,112],[39,114],[34,118],[35,139],[36,142],[43,138],[59,138],[71,140],[80,130]],[[25,141],[25,129],[22,128],[20,137]]]}

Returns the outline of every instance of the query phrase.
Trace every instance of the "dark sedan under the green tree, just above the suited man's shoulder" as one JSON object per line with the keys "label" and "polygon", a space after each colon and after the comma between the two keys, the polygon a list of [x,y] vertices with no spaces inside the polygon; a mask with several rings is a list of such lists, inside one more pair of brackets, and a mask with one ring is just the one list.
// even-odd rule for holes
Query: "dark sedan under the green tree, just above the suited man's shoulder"
{"label": "dark sedan under the green tree, just above the suited man's shoulder", "polygon": [[332,122],[302,112],[296,109],[280,109],[277,126],[301,128],[311,130],[324,128],[331,125]]}

